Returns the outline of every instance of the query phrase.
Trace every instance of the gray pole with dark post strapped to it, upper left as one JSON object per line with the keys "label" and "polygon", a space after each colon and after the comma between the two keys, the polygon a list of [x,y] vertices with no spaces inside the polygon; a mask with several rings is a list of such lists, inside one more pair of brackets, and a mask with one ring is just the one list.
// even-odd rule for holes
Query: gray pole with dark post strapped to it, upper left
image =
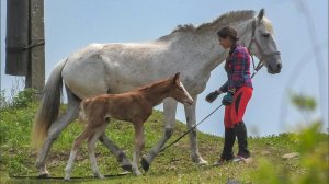
{"label": "gray pole with dark post strapped to it, upper left", "polygon": [[25,76],[25,88],[45,83],[44,0],[7,1],[5,74]]}

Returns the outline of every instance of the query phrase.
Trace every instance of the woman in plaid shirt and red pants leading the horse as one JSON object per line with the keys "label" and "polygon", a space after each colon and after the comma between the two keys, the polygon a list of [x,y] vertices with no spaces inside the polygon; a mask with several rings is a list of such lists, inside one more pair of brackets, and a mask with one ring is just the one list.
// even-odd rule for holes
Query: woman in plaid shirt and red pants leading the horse
{"label": "woman in plaid shirt and red pants leading the horse", "polygon": [[[215,162],[219,165],[226,161],[242,161],[250,157],[243,115],[253,88],[250,78],[250,55],[245,46],[237,43],[237,31],[226,26],[217,35],[219,45],[230,49],[225,62],[227,82],[206,96],[206,101],[212,103],[219,94],[226,93],[222,101],[225,105],[225,141],[220,158]],[[236,137],[239,145],[237,157],[232,152]]]}

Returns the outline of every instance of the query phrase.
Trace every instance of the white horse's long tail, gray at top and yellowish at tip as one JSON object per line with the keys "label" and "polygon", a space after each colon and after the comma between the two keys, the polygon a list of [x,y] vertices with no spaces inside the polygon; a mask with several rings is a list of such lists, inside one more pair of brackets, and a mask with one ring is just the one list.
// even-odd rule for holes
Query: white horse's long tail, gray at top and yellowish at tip
{"label": "white horse's long tail, gray at top and yellowish at tip", "polygon": [[59,114],[63,88],[61,70],[66,61],[67,59],[64,59],[55,66],[44,88],[32,128],[31,146],[33,148],[37,149],[43,145],[52,123]]}

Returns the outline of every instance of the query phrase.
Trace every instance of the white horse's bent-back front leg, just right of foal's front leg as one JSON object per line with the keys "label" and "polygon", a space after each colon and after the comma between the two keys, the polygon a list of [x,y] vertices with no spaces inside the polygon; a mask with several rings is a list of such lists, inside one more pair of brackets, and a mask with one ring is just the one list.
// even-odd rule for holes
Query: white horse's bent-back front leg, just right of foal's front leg
{"label": "white horse's bent-back front leg, just right of foal's front leg", "polygon": [[175,110],[177,101],[173,99],[166,99],[163,102],[163,113],[164,113],[164,134],[163,137],[158,141],[156,146],[141,159],[141,166],[144,171],[149,170],[149,165],[154,159],[159,154],[161,149],[168,139],[172,136],[172,131],[175,123]]}

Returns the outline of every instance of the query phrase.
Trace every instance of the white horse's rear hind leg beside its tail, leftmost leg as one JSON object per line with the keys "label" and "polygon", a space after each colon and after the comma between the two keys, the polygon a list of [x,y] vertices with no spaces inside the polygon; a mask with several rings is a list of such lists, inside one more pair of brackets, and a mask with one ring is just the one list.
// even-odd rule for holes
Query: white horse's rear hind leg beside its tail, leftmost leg
{"label": "white horse's rear hind leg beside its tail, leftmost leg", "polygon": [[42,149],[39,150],[36,159],[36,168],[39,170],[39,175],[38,175],[39,177],[49,176],[49,173],[46,169],[45,161],[50,150],[50,147],[53,142],[57,139],[59,134],[63,131],[63,129],[66,128],[72,120],[75,120],[78,117],[80,100],[73,96],[68,90],[67,90],[67,94],[68,94],[67,111],[56,122],[52,124],[46,140]]}

